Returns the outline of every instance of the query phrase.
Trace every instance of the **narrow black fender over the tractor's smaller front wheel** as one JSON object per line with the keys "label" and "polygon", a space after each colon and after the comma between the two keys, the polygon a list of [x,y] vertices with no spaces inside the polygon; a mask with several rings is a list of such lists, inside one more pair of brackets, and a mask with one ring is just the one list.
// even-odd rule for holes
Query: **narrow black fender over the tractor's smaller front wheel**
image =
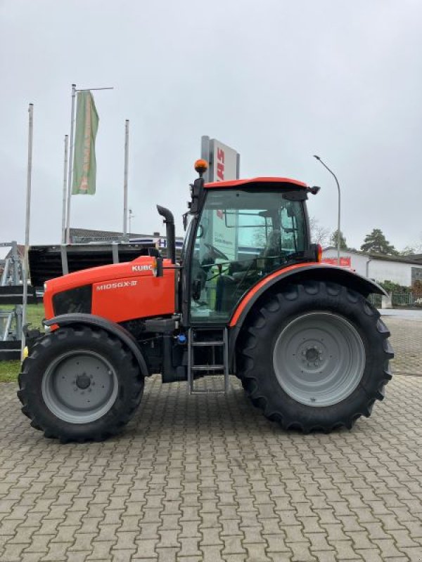
{"label": "narrow black fender over the tractor's smaller front wheel", "polygon": [[145,359],[143,358],[141,348],[139,347],[136,339],[127,329],[124,329],[116,322],[111,322],[102,318],[101,316],[96,316],[94,314],[61,314],[55,318],[50,318],[49,320],[44,320],[45,326],[70,326],[70,325],[89,325],[96,328],[105,329],[109,334],[113,334],[122,341],[122,344],[127,346],[127,348],[132,351],[134,358],[139,365],[141,374],[143,377],[148,377],[148,368],[146,366]]}

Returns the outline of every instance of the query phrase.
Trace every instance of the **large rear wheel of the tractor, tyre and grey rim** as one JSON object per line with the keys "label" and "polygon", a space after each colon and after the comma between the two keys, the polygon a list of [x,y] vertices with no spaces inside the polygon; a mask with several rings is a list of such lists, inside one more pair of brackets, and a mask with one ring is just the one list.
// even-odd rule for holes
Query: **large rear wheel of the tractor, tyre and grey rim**
{"label": "large rear wheel of the tractor, tyre and grey rim", "polygon": [[238,374],[252,403],[283,428],[350,429],[383,399],[388,336],[361,294],[335,283],[290,285],[252,311]]}

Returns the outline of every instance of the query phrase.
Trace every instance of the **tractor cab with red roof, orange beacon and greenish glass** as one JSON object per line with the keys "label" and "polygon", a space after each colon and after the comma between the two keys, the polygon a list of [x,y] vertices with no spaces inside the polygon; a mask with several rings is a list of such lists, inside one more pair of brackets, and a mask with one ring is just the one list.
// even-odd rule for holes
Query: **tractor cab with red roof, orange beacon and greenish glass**
{"label": "tractor cab with red roof, orange beacon and greenish glass", "polygon": [[[182,320],[226,325],[241,297],[264,277],[319,261],[305,205],[308,193],[319,188],[288,178],[205,183],[207,163],[198,160],[195,168],[200,177],[191,185],[191,220],[181,251]],[[173,221],[165,223],[172,244]],[[174,256],[174,249],[169,254]]]}

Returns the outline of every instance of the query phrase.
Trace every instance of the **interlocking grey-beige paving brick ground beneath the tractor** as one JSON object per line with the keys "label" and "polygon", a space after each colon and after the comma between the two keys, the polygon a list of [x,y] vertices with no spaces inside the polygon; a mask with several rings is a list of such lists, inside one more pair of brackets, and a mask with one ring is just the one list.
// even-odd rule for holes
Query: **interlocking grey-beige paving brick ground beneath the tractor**
{"label": "interlocking grey-beige paving brick ground beneath the tractor", "polygon": [[[421,322],[388,324],[422,374]],[[89,445],[46,440],[1,385],[0,561],[422,561],[422,377],[328,436],[281,431],[233,382],[188,398],[153,377],[127,431]]]}

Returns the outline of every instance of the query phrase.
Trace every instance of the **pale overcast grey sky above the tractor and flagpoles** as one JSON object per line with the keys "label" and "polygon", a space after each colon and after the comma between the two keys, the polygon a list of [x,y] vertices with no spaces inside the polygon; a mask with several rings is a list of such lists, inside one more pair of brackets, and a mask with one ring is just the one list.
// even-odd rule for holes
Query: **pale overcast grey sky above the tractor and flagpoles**
{"label": "pale overcast grey sky above the tractor and flagpoles", "polygon": [[419,0],[0,0],[0,241],[25,236],[27,107],[34,103],[32,243],[60,242],[71,84],[95,93],[97,192],[71,226],[120,230],[130,119],[132,231],[182,234],[207,134],[241,153],[241,176],[288,176],[321,192],[309,214],[334,230],[338,175],[347,243],[381,228],[421,242]]}

